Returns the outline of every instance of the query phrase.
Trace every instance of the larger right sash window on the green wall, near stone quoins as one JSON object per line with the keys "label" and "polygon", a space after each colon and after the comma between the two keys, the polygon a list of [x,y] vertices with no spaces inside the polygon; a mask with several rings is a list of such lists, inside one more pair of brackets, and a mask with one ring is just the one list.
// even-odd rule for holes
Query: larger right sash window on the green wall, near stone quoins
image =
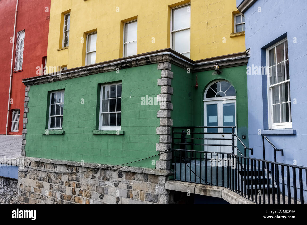
{"label": "larger right sash window on the green wall, near stone quoins", "polygon": [[99,130],[120,129],[122,84],[101,85]]}

